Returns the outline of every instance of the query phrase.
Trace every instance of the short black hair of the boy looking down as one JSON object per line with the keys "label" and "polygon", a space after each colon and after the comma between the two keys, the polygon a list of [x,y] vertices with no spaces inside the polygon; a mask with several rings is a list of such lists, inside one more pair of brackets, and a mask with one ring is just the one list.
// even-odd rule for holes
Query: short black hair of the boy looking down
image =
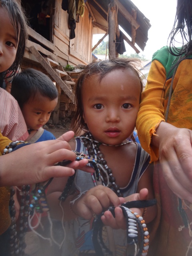
{"label": "short black hair of the boy looking down", "polygon": [[46,74],[28,68],[18,73],[12,81],[11,94],[18,101],[20,108],[36,94],[54,100],[58,97],[58,90]]}

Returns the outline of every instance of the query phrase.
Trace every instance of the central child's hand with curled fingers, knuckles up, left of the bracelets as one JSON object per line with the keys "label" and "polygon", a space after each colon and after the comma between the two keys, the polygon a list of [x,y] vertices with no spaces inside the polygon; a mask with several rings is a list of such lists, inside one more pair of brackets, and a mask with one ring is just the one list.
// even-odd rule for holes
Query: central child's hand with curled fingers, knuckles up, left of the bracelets
{"label": "central child's hand with curled fingers, knuckles up, left of the bracelets", "polygon": [[110,188],[99,185],[88,190],[71,207],[76,215],[90,220],[93,214],[98,215],[109,206],[120,206],[124,202],[124,198],[118,198]]}

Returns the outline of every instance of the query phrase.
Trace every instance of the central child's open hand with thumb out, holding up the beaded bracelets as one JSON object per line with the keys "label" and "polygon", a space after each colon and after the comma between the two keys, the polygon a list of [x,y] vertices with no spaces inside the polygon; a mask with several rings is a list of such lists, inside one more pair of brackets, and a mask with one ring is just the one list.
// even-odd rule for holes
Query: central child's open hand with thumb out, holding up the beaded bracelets
{"label": "central child's open hand with thumb out, holding up the beaded bracelets", "polygon": [[[148,189],[143,188],[140,190],[139,194],[132,194],[124,198],[126,202],[135,201],[135,200],[147,200],[148,199]],[[144,208],[131,208],[133,212],[137,212],[142,216]],[[104,212],[104,215],[101,217],[101,220],[104,225],[110,226],[114,229],[126,229],[126,219],[123,215],[122,209],[120,207],[115,208],[115,218],[113,217],[110,211]]]}

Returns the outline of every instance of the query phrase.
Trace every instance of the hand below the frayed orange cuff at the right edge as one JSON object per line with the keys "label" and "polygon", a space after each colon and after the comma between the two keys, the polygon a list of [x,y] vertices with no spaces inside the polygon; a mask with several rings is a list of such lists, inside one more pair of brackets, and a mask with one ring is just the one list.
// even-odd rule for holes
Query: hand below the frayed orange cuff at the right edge
{"label": "hand below the frayed orange cuff at the right edge", "polygon": [[192,203],[192,131],[161,122],[152,136],[170,189]]}

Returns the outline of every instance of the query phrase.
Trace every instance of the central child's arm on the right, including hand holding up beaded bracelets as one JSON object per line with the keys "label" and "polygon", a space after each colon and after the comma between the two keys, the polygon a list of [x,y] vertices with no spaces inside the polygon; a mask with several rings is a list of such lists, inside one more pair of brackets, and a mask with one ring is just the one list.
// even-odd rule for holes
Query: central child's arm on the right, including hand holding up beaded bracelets
{"label": "central child's arm on the right, including hand holding up beaded bracelets", "polygon": [[[148,200],[154,198],[154,192],[153,192],[153,165],[149,165],[147,170],[142,175],[142,178],[140,178],[140,181],[138,183],[138,189],[139,192],[136,194],[132,194],[125,198],[126,202],[133,201],[133,200]],[[147,189],[146,189],[147,188]],[[140,216],[144,213],[144,208],[132,208],[134,212],[137,212]],[[146,214],[144,215],[144,220],[146,223],[151,222],[157,214],[157,206],[150,206],[146,210]],[[112,213],[109,211],[104,212],[104,215],[101,217],[102,222],[106,226],[111,226],[112,228],[122,228],[126,229],[126,222],[124,215],[122,213],[122,209],[119,207],[115,208],[115,218],[112,216]]]}

